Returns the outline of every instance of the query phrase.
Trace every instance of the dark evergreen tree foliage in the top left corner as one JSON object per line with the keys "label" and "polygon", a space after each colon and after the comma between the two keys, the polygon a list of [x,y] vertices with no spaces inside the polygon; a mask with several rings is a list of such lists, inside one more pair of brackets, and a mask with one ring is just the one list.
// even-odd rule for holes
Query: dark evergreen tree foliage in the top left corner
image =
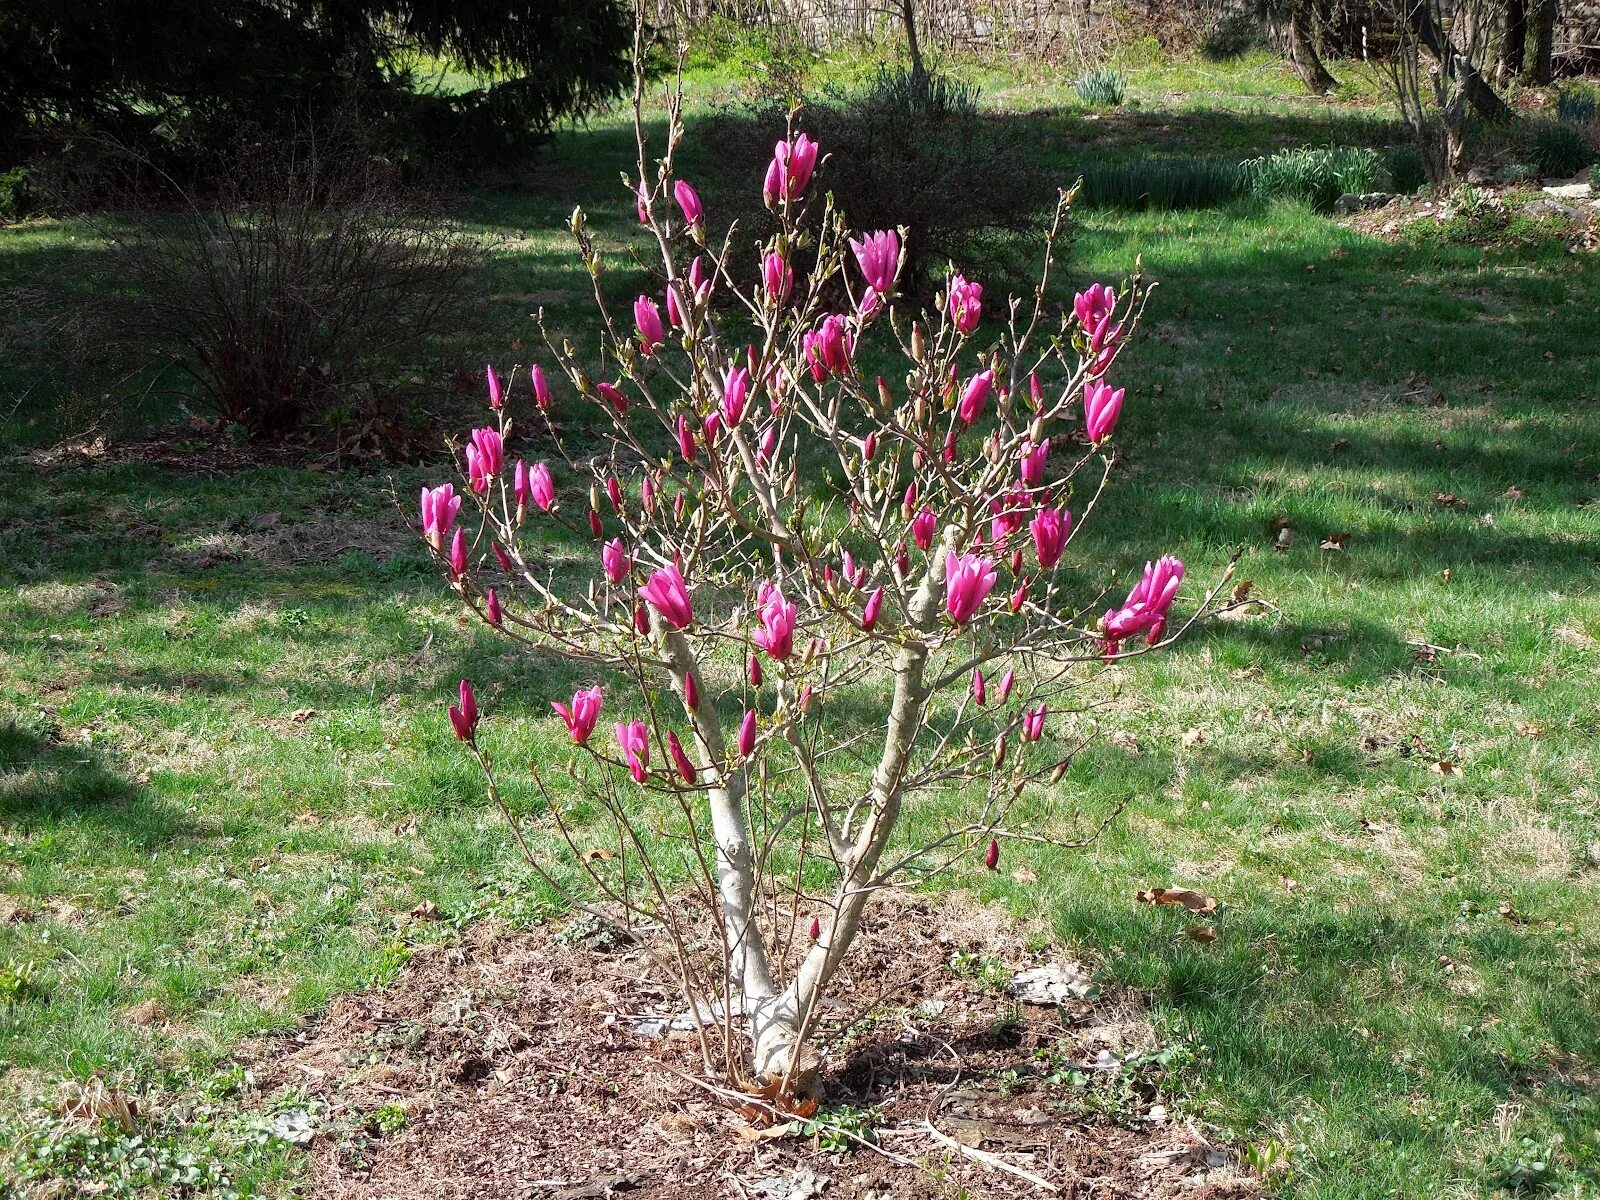
{"label": "dark evergreen tree foliage in the top left corner", "polygon": [[[0,13],[0,163],[50,134],[110,138],[157,160],[216,150],[245,128],[318,120],[352,94],[402,146],[453,120],[520,144],[616,94],[629,45],[621,0],[18,0]],[[419,94],[389,66],[402,50],[506,80]],[[480,144],[474,133],[466,149]]]}

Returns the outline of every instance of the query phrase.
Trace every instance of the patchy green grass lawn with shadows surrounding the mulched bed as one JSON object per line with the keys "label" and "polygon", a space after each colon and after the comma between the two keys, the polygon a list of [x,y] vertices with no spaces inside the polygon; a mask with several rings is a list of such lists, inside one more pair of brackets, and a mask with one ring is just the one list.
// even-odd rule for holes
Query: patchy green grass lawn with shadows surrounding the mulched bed
{"label": "patchy green grass lawn with shadows surrounding the mulched bed", "polygon": [[[1139,109],[1094,122],[1066,88],[990,93],[1043,109],[1026,130],[1046,171],[1163,139],[1245,157],[1373,136],[1370,107],[1290,99],[1282,70],[1200,74],[1203,109],[1198,82],[1165,94],[1152,69]],[[597,122],[538,190],[475,198],[501,238],[493,317],[451,366],[514,357],[538,304],[578,328],[558,230],[574,200],[626,229],[629,154]],[[1277,1158],[1286,1195],[1594,1195],[1594,259],[1386,245],[1291,205],[1082,221],[1072,283],[1139,254],[1162,283],[1083,565],[1171,550],[1203,581],[1245,546],[1264,603],[1112,672],[1107,736],[1059,784],[1091,818],[1131,800],[1098,845],[1019,851],[1026,883],[957,882],[1144,989],[1192,1054],[1173,1102]],[[96,254],[70,226],[0,232],[6,286],[70,294]],[[67,402],[22,386],[35,366],[0,346],[18,454],[62,432]],[[238,1040],[466,922],[550,912],[443,704],[472,675],[502,758],[538,758],[574,675],[458,619],[392,494],[408,514],[440,469],[19,458],[0,477],[0,1195],[70,1171],[293,1190],[299,1154],[242,1115]],[[1216,939],[1138,904],[1150,885],[1219,898]],[[414,920],[424,901],[445,920]],[[32,1099],[93,1074],[146,1101],[138,1139]]]}

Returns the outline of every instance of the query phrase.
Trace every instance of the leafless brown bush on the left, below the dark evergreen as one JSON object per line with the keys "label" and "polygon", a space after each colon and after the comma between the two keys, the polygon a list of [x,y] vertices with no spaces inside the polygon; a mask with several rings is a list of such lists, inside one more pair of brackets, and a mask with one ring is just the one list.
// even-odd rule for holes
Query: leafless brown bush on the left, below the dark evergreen
{"label": "leafless brown bush on the left, below the dark evergreen", "polygon": [[246,144],[203,189],[136,173],[147,200],[107,234],[138,331],[181,360],[203,408],[259,438],[400,432],[403,368],[467,301],[480,253],[437,197],[350,123]]}

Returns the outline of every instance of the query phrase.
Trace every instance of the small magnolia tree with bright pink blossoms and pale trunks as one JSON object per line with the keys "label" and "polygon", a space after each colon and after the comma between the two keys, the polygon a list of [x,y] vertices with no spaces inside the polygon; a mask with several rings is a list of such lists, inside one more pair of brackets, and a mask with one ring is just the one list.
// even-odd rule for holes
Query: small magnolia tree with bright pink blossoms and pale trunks
{"label": "small magnolia tree with bright pink blossoms and pale trunks", "polygon": [[[565,762],[525,768],[466,680],[450,710],[528,862],[656,934],[707,1069],[779,1102],[811,1082],[874,896],[995,869],[1008,840],[1096,835],[1062,781],[1106,670],[1171,642],[1222,582],[1181,602],[1182,563],[1162,557],[1107,598],[1104,563],[1074,550],[1118,458],[1109,376],[1142,278],[1054,310],[1046,234],[1029,296],[952,275],[918,310],[902,235],[853,237],[827,202],[843,181],[826,147],[789,131],[747,179],[778,230],[736,246],[675,171],[680,91],[654,154],[642,104],[640,78],[627,186],[664,296],[613,309],[614,258],[576,210],[600,344],[547,333],[558,373],[533,363],[515,389],[490,370],[462,491],[424,488],[418,531],[477,619],[590,672],[552,702]],[[512,461],[523,429],[547,461]],[[552,534],[584,558],[550,555]],[[502,771],[523,770],[570,861],[502,802]]]}

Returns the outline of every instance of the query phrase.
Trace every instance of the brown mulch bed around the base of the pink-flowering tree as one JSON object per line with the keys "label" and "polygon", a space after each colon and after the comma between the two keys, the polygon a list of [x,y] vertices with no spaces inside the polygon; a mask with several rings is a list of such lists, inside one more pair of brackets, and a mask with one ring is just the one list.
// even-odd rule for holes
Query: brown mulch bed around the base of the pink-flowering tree
{"label": "brown mulch bed around the base of the pink-flowering tree", "polygon": [[[314,1195],[1253,1197],[1261,1181],[1168,1115],[1134,997],[1019,1005],[1008,917],[885,898],[819,1038],[813,1125],[758,1128],[704,1077],[682,1003],[637,946],[581,925],[472,926],[386,989],[246,1053],[261,1104],[307,1144]],[[837,1106],[837,1107],[835,1107]],[[848,1107],[846,1107],[848,1106]],[[867,1139],[862,1146],[848,1133]]]}

